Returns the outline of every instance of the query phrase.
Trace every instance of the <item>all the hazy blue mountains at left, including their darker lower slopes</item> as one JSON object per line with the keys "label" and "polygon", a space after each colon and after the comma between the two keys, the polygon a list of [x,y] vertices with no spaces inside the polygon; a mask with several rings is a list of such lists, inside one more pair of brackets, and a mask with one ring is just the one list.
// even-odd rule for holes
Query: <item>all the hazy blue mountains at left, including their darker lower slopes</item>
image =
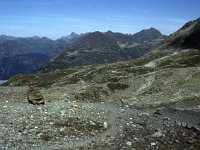
{"label": "all the hazy blue mountains at left, including their darker lower slopes", "polygon": [[0,79],[36,71],[41,64],[66,48],[78,36],[73,32],[67,37],[51,40],[38,36],[21,38],[1,35]]}

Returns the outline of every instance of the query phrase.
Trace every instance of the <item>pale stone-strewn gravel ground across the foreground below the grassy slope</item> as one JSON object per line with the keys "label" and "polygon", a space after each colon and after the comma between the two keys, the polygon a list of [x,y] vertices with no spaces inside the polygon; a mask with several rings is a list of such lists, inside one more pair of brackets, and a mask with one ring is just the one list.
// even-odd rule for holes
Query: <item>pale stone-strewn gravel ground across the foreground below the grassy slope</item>
{"label": "pale stone-strewn gravel ground across the foreground below the grassy slope", "polygon": [[34,106],[27,102],[26,90],[27,87],[0,87],[0,149],[139,150],[200,146],[199,131],[180,126],[180,121],[187,121],[199,127],[198,112],[59,100],[56,95],[48,101],[45,89],[42,93],[46,104]]}

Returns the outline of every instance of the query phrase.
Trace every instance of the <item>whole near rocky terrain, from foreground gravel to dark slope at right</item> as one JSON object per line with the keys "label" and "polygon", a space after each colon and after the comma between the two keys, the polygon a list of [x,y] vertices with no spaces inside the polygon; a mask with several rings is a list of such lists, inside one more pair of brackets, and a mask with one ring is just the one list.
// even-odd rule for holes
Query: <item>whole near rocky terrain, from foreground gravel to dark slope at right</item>
{"label": "whole near rocky terrain, from foreground gravel to dark slope at right", "polygon": [[[136,60],[11,78],[0,148],[200,149],[200,49],[181,44],[198,31],[199,19]],[[29,86],[45,105],[27,102]]]}

